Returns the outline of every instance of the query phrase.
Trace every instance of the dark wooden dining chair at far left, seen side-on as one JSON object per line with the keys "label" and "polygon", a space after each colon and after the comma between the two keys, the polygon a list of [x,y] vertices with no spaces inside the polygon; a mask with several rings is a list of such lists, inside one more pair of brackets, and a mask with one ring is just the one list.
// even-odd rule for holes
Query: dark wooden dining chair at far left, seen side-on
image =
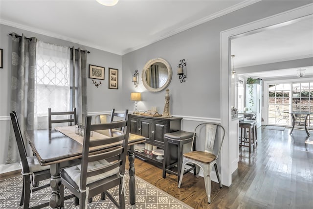
{"label": "dark wooden dining chair at far left, seen side-on", "polygon": [[[17,114],[15,111],[13,111],[12,113],[10,113],[10,116],[22,165],[23,187],[20,206],[23,206],[23,209],[28,209],[31,192],[38,191],[40,189],[50,186],[50,184],[38,186],[40,181],[49,179],[51,177],[50,166],[41,166],[35,156],[27,155]],[[44,204],[31,207],[29,209],[44,208],[48,205],[49,202],[46,202]]]}

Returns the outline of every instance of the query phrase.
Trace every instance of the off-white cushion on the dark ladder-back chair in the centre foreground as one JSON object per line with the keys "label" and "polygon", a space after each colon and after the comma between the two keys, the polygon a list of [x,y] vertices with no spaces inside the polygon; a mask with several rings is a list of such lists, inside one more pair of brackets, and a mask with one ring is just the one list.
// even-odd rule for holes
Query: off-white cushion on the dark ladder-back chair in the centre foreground
{"label": "off-white cushion on the dark ladder-back chair in the centre foreground", "polygon": [[[101,167],[105,167],[109,165],[110,163],[106,160],[100,160],[100,161],[94,161],[88,163],[87,171],[91,171],[94,169],[98,169]],[[75,165],[69,168],[64,169],[65,172],[67,172],[67,175],[76,183],[77,186],[80,185],[80,173],[81,173],[81,165]],[[99,181],[101,179],[105,179],[107,177],[110,177],[114,174],[117,174],[119,172],[119,167],[116,167],[108,172],[96,175],[96,176],[90,176],[87,178],[86,185],[89,185],[93,182]]]}

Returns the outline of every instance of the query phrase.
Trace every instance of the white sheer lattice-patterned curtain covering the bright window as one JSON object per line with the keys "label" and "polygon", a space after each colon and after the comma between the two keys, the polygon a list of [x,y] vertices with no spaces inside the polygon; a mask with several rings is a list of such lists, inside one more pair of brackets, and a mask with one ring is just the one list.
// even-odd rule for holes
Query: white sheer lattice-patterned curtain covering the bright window
{"label": "white sheer lattice-patterned curtain covering the bright window", "polygon": [[[70,48],[42,41],[36,46],[35,129],[48,128],[48,108],[70,111]],[[62,124],[60,124],[62,126]]]}

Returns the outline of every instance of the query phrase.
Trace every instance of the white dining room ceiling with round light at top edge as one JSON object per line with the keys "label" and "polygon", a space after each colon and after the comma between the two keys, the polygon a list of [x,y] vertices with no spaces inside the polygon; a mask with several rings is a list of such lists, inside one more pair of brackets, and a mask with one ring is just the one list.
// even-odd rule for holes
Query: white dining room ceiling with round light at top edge
{"label": "white dining room ceiling with round light at top edge", "polygon": [[2,24],[123,55],[257,2],[0,0]]}

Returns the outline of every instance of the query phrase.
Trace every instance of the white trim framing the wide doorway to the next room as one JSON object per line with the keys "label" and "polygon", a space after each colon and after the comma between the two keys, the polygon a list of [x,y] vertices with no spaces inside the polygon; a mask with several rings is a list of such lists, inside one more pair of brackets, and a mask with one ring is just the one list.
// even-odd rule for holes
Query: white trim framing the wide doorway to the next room
{"label": "white trim framing the wide doorway to the next room", "polygon": [[221,179],[223,185],[231,185],[231,159],[229,155],[229,125],[231,120],[230,38],[249,31],[265,28],[278,23],[285,23],[287,21],[291,21],[306,15],[311,15],[313,14],[312,11],[313,3],[221,32],[221,118],[222,125],[226,129],[224,144],[221,151]]}

